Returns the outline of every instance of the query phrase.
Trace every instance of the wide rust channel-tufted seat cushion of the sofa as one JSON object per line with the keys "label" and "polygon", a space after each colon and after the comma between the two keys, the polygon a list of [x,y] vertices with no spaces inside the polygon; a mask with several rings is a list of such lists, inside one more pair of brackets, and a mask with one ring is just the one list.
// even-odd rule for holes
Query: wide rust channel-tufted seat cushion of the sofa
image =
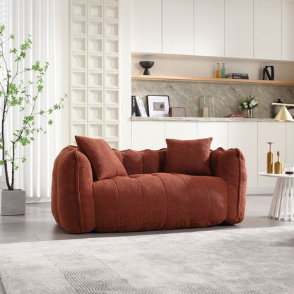
{"label": "wide rust channel-tufted seat cushion of the sofa", "polygon": [[96,229],[127,232],[206,227],[227,215],[220,177],[155,173],[93,182]]}

